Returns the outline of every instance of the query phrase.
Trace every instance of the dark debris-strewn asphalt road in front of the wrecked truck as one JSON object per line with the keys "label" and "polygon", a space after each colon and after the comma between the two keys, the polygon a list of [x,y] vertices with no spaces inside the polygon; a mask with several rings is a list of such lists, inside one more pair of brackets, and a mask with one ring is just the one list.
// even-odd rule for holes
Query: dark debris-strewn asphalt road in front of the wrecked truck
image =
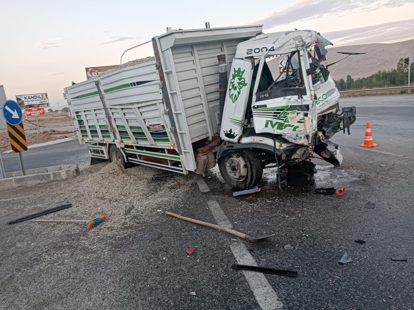
{"label": "dark debris-strewn asphalt road in front of the wrecked truck", "polygon": [[[54,186],[49,188],[53,195],[31,196],[33,200],[21,198],[33,195],[33,188],[2,193],[2,308],[413,310],[414,143],[409,130],[414,96],[342,98],[341,102],[355,105],[359,117],[350,136],[338,133],[332,138],[341,145],[344,162],[335,169],[317,162],[310,192],[303,191],[297,180],[280,192],[274,171],[268,169],[260,193],[233,198],[233,190],[221,183],[213,169],[204,179],[159,170],[140,188],[143,195],[138,195],[142,186],[138,181],[132,191],[122,190],[130,181],[113,184],[120,188],[118,195],[102,196],[98,189],[88,191],[84,183],[79,184],[79,192],[67,193],[64,182],[37,186],[39,192]],[[359,147],[367,121],[379,144],[375,151]],[[104,167],[92,169],[98,183],[108,177],[99,173]],[[176,181],[183,185],[174,186]],[[346,186],[344,196],[313,193],[316,187],[330,186]],[[155,196],[162,189],[167,191],[162,192],[160,204]],[[116,231],[106,229],[114,224],[110,217],[90,231],[65,224],[5,224],[45,209],[48,201],[82,194],[81,201],[95,203],[85,213],[105,210],[106,204],[120,197],[140,198],[133,205],[119,203]],[[368,201],[375,203],[373,209],[364,207]],[[135,210],[144,203],[153,217]],[[80,217],[73,214],[77,209],[68,210],[66,216]],[[169,217],[165,210],[252,236],[276,236],[250,243]],[[293,248],[285,249],[288,244]],[[187,257],[184,251],[190,246],[194,252]],[[344,252],[353,262],[338,262]],[[392,256],[405,256],[408,261],[392,261]],[[295,269],[298,277],[231,269],[237,262]],[[195,296],[190,295],[193,291]]]}

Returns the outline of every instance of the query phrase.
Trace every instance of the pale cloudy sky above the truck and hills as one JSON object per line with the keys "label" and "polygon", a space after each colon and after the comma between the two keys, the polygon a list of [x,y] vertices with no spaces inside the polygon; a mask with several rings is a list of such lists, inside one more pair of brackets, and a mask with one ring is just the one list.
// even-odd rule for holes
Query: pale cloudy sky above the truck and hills
{"label": "pale cloudy sky above the truck and hills", "polygon": [[[65,3],[65,4],[63,4]],[[313,29],[335,46],[414,38],[414,0],[7,1],[2,4],[0,85],[7,99],[48,93],[86,79],[85,67],[119,64],[127,48],[173,29],[264,24],[267,33]],[[150,44],[123,62],[152,55]]]}

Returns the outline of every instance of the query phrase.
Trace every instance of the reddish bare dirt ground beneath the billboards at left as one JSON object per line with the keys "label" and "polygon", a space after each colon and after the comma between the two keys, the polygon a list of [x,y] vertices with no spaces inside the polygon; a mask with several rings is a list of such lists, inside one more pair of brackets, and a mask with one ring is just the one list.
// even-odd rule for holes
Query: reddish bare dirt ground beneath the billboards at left
{"label": "reddish bare dirt ground beneath the billboards at left", "polygon": [[[38,117],[41,133],[37,133],[36,117],[23,121],[28,145],[55,141],[74,136],[75,126],[67,112],[49,112]],[[10,150],[7,129],[0,130],[0,152]]]}

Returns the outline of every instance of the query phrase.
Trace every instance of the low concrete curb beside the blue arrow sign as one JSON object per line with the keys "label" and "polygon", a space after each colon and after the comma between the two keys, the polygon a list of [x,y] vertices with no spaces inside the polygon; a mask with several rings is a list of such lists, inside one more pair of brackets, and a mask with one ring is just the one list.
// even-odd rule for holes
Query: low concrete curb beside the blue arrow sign
{"label": "low concrete curb beside the blue arrow sign", "polygon": [[33,186],[36,184],[61,181],[74,178],[80,174],[77,165],[59,165],[52,167],[26,170],[26,175],[21,171],[6,173],[6,179],[0,179],[0,191],[20,186]]}

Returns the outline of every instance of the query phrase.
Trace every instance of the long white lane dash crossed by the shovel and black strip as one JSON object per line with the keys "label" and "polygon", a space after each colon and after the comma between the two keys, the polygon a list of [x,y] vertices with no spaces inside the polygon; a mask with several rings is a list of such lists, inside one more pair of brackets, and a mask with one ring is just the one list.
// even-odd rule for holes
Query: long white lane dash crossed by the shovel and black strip
{"label": "long white lane dash crossed by the shovel and black strip", "polygon": [[[210,200],[207,202],[207,205],[219,225],[227,228],[233,227],[217,201]],[[238,264],[257,266],[257,262],[252,255],[250,255],[243,241],[234,241],[231,243],[230,249]],[[246,270],[243,270],[243,274],[250,289],[253,291],[260,308],[263,310],[274,310],[283,307],[283,303],[279,300],[279,297],[277,297],[277,293],[272,289],[272,286],[270,286],[264,274]]]}

